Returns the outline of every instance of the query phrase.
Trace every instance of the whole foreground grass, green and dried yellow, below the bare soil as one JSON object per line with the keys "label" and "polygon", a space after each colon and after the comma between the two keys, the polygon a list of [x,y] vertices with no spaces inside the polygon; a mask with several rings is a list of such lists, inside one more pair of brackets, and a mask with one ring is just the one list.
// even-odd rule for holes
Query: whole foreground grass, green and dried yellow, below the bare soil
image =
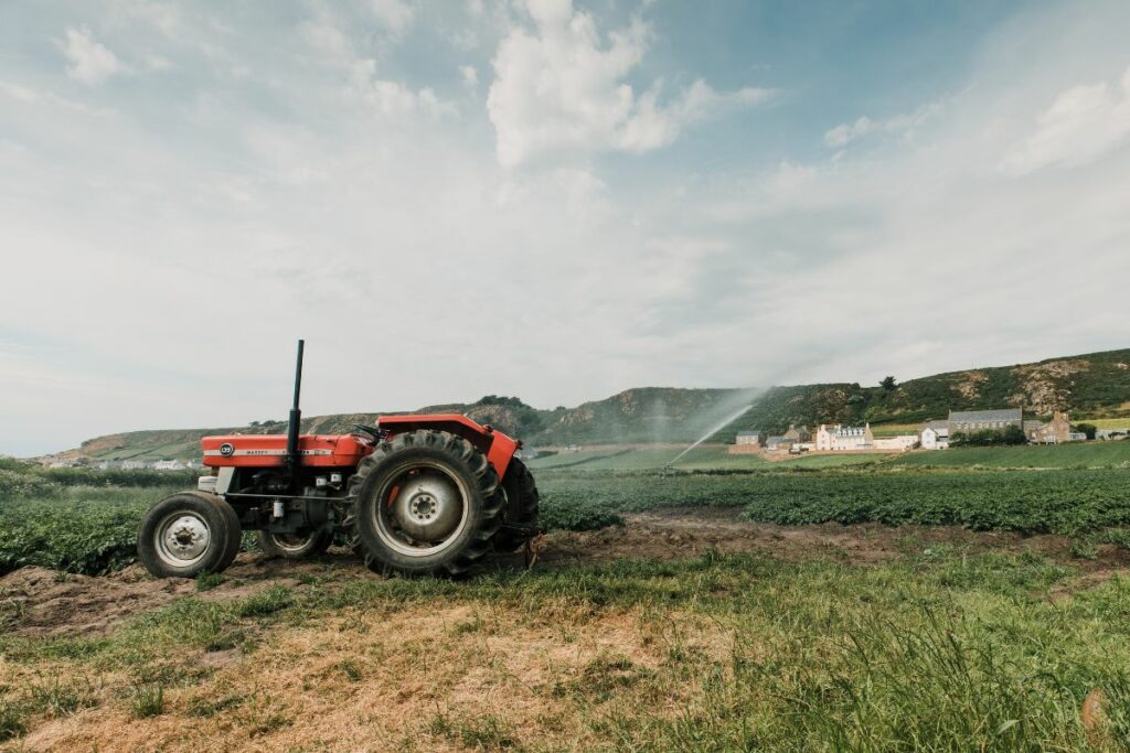
{"label": "whole foreground grass, green and dried yellow, below the bare soil", "polygon": [[[0,636],[10,750],[1119,751],[1130,734],[1130,581],[1052,598],[1074,569],[1036,554],[706,554],[460,584],[253,570],[107,636]],[[1107,721],[1088,730],[1095,689]]]}

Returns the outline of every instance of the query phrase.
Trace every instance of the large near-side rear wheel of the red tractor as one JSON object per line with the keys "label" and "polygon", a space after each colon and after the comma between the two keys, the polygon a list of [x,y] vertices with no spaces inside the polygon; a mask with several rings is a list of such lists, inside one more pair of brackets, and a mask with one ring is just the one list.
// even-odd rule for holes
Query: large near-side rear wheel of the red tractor
{"label": "large near-side rear wheel of the red tractor", "polygon": [[458,576],[494,549],[497,489],[486,456],[462,437],[410,431],[379,444],[357,466],[345,526],[375,572]]}

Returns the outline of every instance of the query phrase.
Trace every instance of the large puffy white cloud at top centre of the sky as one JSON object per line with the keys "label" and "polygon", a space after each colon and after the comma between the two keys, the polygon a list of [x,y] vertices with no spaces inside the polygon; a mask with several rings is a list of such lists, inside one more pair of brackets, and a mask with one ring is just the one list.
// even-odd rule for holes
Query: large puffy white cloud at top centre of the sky
{"label": "large puffy white cloud at top centre of the sky", "polygon": [[718,93],[702,80],[667,103],[660,102],[660,81],[636,95],[625,79],[646,52],[646,23],[636,18],[606,40],[571,0],[531,0],[528,10],[533,28],[516,27],[499,44],[487,99],[505,167],[555,152],[649,151],[727,106],[772,95],[755,88]]}

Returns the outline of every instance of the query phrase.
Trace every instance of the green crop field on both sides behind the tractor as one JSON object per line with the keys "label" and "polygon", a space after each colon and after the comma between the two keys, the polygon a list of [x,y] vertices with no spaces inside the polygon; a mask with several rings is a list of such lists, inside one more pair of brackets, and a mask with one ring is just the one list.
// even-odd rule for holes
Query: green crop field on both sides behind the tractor
{"label": "green crop field on both sides behind the tractor", "polygon": [[[814,455],[779,463],[704,445],[676,464],[679,473],[660,478],[658,470],[678,452],[600,450],[575,454],[581,457],[572,462],[584,461],[579,465],[534,462],[541,525],[590,531],[623,523],[624,513],[666,507],[741,507],[753,519],[783,524],[956,524],[1079,535],[1130,525],[1130,443]],[[1085,470],[1092,467],[1103,470]],[[136,559],[145,511],[181,488],[75,485],[89,480],[89,472],[0,473],[8,484],[0,490],[0,575],[26,564],[87,575],[120,569]],[[1118,533],[1106,537],[1122,541]]]}

